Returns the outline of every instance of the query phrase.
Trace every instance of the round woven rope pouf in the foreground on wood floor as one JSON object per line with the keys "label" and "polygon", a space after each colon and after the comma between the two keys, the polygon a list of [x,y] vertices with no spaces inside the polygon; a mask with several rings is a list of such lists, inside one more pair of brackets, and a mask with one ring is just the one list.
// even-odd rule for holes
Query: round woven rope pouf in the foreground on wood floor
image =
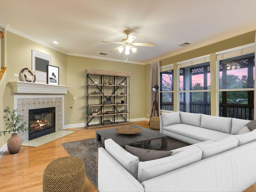
{"label": "round woven rope pouf in the foreground on wood floor", "polygon": [[44,192],[83,192],[85,167],[82,159],[61,157],[48,164],[44,170]]}

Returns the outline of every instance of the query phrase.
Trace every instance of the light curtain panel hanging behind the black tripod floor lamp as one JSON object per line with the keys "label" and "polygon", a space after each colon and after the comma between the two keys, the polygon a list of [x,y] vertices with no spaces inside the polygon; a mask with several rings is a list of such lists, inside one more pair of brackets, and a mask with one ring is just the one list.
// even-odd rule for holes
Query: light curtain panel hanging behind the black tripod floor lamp
{"label": "light curtain panel hanging behind the black tripod floor lamp", "polygon": [[[155,98],[155,92],[152,91],[152,87],[155,85],[160,86],[160,63],[158,61],[154,61],[150,63],[150,109],[154,107],[154,109],[151,111],[151,116],[156,117],[159,115],[159,109],[160,109],[160,103],[159,103],[159,98],[160,98],[160,88],[157,91],[156,98]],[[156,102],[158,104],[158,111],[156,111],[156,106],[153,106],[154,101],[156,99]],[[151,117],[150,116],[150,117]]]}

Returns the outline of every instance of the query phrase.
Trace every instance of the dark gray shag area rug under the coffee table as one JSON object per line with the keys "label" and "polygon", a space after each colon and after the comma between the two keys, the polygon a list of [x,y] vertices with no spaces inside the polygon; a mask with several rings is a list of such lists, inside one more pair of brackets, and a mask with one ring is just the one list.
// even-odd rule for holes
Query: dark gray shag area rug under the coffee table
{"label": "dark gray shag area rug under the coffee table", "polygon": [[[189,144],[168,137],[167,145],[167,148],[164,149],[165,151],[188,146]],[[98,142],[96,142],[96,139],[90,138],[63,143],[62,146],[65,148],[68,154],[70,154],[70,156],[76,156],[83,160],[86,176],[90,179],[92,184],[98,188],[98,148],[101,146],[98,144]]]}

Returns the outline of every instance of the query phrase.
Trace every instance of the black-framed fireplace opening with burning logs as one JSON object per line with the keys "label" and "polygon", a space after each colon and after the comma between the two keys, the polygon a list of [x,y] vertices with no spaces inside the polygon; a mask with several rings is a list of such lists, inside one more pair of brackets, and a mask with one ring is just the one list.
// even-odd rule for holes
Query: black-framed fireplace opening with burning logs
{"label": "black-framed fireplace opening with burning logs", "polygon": [[55,132],[55,107],[28,111],[28,140]]}

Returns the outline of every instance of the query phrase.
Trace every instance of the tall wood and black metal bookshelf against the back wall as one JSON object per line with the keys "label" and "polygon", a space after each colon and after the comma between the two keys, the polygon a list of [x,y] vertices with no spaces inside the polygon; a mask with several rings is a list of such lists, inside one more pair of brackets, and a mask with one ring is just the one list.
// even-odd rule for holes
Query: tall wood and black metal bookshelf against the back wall
{"label": "tall wood and black metal bookshelf against the back wall", "polygon": [[130,73],[86,69],[86,75],[86,128],[130,124]]}

